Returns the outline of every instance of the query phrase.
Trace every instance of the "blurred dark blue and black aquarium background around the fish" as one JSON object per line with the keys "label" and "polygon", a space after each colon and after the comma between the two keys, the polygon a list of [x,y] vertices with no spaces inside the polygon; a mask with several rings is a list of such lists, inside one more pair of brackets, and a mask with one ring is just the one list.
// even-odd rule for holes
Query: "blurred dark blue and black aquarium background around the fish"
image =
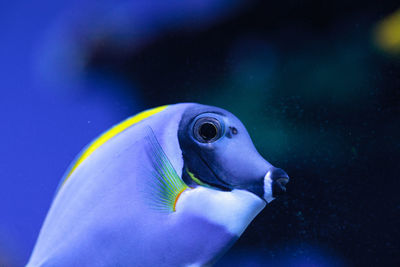
{"label": "blurred dark blue and black aquarium background around the fish", "polygon": [[87,143],[178,102],[230,110],[292,178],[217,266],[400,266],[398,1],[0,7],[0,266]]}

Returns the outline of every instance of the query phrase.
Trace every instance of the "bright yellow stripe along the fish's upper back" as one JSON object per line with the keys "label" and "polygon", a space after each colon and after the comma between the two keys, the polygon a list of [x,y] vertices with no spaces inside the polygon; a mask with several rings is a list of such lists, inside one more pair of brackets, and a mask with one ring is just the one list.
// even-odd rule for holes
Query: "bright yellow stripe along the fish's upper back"
{"label": "bright yellow stripe along the fish's upper back", "polygon": [[[132,116],[123,122],[115,125],[112,127],[110,130],[107,132],[103,133],[100,137],[98,137],[79,157],[79,159],[76,161],[75,165],[71,168],[70,172],[68,173],[67,177],[63,181],[62,185],[65,184],[65,182],[68,180],[68,178],[71,176],[71,174],[75,171],[76,168],[85,160],[87,159],[96,149],[98,149],[100,146],[102,146],[105,142],[116,136],[117,134],[123,132],[127,128],[131,127],[135,123],[138,123],[156,113],[159,113],[163,111],[166,106],[161,106],[149,110],[145,110],[135,116]],[[61,185],[61,186],[62,186]]]}

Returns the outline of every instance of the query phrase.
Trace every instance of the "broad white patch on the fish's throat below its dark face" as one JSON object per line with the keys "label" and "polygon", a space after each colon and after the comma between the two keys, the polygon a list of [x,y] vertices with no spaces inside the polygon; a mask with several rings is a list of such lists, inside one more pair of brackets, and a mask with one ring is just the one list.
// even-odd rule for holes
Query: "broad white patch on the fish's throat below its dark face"
{"label": "broad white patch on the fish's throat below its dark face", "polygon": [[198,186],[181,194],[176,216],[197,215],[240,236],[265,205],[264,200],[246,190],[227,192]]}

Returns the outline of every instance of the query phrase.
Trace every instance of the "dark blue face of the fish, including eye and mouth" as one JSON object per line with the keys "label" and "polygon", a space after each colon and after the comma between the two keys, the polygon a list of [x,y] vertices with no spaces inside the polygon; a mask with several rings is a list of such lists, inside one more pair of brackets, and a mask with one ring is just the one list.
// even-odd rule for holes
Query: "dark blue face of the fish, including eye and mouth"
{"label": "dark blue face of the fish, including eye and mouth", "polygon": [[286,191],[286,172],[258,153],[242,122],[224,109],[193,104],[182,116],[178,139],[189,186],[247,190],[266,202]]}

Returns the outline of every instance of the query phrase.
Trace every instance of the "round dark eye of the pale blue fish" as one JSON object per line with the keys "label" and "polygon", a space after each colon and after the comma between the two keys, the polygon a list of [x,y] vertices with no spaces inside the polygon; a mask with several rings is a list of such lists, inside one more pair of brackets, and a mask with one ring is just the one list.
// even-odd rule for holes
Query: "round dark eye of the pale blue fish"
{"label": "round dark eye of the pale blue fish", "polygon": [[193,134],[197,141],[211,143],[222,135],[220,122],[211,117],[203,117],[196,121],[193,127]]}

